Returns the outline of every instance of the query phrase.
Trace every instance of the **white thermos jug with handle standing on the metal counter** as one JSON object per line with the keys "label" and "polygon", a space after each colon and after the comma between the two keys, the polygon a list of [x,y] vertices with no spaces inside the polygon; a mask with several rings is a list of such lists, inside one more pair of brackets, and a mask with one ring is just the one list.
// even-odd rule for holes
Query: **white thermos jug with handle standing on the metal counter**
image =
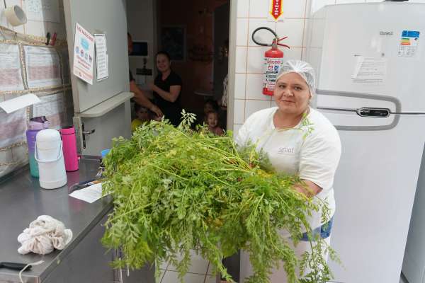
{"label": "white thermos jug with handle standing on the metal counter", "polygon": [[38,162],[40,187],[56,189],[67,183],[62,140],[56,129],[42,129],[35,141],[35,160]]}

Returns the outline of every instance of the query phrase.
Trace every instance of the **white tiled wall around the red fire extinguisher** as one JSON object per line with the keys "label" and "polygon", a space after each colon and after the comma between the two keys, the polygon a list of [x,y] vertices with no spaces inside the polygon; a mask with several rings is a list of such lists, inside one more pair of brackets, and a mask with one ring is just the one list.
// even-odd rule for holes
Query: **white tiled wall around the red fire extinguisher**
{"label": "white tiled wall around the red fire extinguisher", "polygon": [[[311,13],[327,4],[358,2],[381,2],[382,0],[284,0],[283,22],[267,21],[268,0],[237,0],[236,71],[234,81],[234,133],[253,112],[274,105],[271,97],[262,91],[263,54],[270,47],[260,47],[251,40],[255,28],[266,26],[276,31],[279,37],[288,35],[284,41],[290,50],[281,48],[284,59],[303,59],[305,55],[305,29]],[[412,0],[422,2],[425,0]],[[271,42],[271,33],[257,33],[256,38]]]}

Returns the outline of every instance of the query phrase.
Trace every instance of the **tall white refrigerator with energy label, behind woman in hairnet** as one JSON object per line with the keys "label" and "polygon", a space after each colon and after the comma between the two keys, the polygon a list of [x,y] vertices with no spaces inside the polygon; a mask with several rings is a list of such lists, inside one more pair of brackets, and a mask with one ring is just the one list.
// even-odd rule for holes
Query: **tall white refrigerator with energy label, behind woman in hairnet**
{"label": "tall white refrigerator with energy label, behind woman in hairnet", "polygon": [[425,4],[325,6],[306,56],[342,143],[334,282],[398,283],[425,141]]}

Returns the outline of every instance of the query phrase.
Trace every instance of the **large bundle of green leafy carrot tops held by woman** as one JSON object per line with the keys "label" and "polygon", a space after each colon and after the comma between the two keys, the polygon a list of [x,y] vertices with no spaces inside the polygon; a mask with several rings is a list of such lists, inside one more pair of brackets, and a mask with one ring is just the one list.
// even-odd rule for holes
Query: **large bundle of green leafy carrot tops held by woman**
{"label": "large bundle of green leafy carrot tops held by woman", "polygon": [[[221,261],[242,249],[254,270],[248,282],[269,282],[279,262],[289,282],[326,282],[331,272],[322,250],[334,255],[326,243],[314,239],[312,250],[297,260],[279,234],[288,231],[297,244],[304,231],[311,232],[307,215],[323,209],[293,190],[299,178],[273,173],[254,146],[237,150],[231,133],[215,137],[203,127],[195,132],[194,116],[183,117],[178,128],[152,122],[129,140],[116,139],[104,161],[103,187],[115,208],[103,244],[123,250],[113,265],[171,262],[182,279],[196,250],[232,281]],[[299,280],[297,266],[301,273],[311,271]]]}

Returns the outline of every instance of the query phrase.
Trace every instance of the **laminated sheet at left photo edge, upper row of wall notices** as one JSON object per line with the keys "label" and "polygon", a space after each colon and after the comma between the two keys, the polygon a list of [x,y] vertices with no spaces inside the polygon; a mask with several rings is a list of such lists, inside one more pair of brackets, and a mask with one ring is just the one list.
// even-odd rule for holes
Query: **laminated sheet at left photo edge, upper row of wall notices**
{"label": "laminated sheet at left photo edge, upper row of wall notices", "polygon": [[0,43],[0,91],[23,89],[19,47]]}

